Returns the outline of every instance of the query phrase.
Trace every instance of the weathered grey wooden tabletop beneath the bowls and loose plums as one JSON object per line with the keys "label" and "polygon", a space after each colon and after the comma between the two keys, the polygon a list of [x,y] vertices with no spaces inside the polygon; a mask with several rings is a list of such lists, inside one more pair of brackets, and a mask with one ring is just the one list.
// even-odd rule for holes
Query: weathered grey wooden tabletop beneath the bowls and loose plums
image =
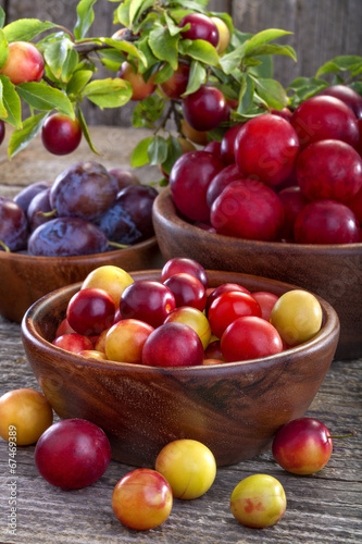
{"label": "weathered grey wooden tabletop beneath the bowls and loose plums", "polygon": [[[129,165],[130,150],[142,136],[114,127],[93,129],[105,166]],[[127,136],[125,138],[125,135]],[[46,153],[39,143],[9,163],[0,150],[0,195],[13,196],[34,181],[53,178],[63,168],[95,159],[86,146],[65,159]],[[158,174],[142,170],[148,181]],[[0,279],[1,281],[1,279]],[[0,438],[0,543],[359,543],[362,542],[362,359],[334,361],[308,416],[323,421],[332,434],[354,429],[357,436],[334,441],[328,465],[311,477],[280,469],[270,452],[217,470],[209,492],[195,500],[174,500],[166,522],[152,531],[124,528],[111,506],[116,482],[134,467],[111,461],[95,484],[76,491],[52,487],[38,474],[35,446],[17,447],[15,474],[11,473],[8,443]],[[25,358],[21,326],[0,317],[0,395],[20,387],[39,386]],[[55,417],[57,419],[57,417]],[[229,510],[229,497],[240,480],[267,473],[284,485],[287,511],[276,526],[252,530],[238,523]],[[13,487],[11,484],[14,483]],[[16,533],[9,534],[12,489],[16,499]]]}

